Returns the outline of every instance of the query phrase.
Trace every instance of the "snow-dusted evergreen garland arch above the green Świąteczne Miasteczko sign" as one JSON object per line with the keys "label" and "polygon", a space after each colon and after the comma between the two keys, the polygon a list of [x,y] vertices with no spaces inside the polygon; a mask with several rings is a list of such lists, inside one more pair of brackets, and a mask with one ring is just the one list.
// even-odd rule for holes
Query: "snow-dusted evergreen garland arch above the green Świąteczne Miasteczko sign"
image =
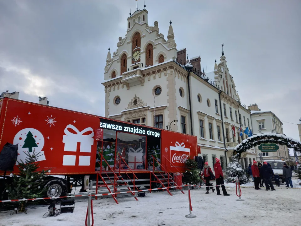
{"label": "snow-dusted evergreen garland arch above the green \u015awi\u0105teczne Miasteczko sign", "polygon": [[283,134],[260,133],[243,140],[233,149],[233,153],[241,155],[241,153],[246,152],[248,149],[258,146],[262,143],[286,145],[288,148],[294,148],[295,151],[301,152],[301,142],[298,140],[284,136]]}

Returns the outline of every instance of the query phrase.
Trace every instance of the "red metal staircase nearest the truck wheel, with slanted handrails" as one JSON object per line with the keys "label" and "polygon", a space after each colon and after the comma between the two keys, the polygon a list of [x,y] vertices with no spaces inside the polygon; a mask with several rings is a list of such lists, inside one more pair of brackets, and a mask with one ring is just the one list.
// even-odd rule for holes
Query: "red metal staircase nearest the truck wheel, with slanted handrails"
{"label": "red metal staircase nearest the truck wheel, with slanted handrails", "polygon": [[[132,183],[134,185],[133,186],[134,191],[138,190],[137,187],[135,186],[135,178],[136,179],[138,179],[138,178],[136,177],[136,175],[134,174],[134,172],[129,168],[129,166],[126,164],[126,162],[124,161],[124,159],[121,157],[121,155],[119,153],[118,153],[118,155],[119,155],[119,171],[118,170],[114,171],[109,166],[109,164],[106,161],[106,159],[103,158],[103,153],[102,152],[100,153],[100,155],[101,155],[101,158],[100,158],[100,172],[98,172],[96,174],[96,191],[95,191],[96,195],[98,193],[98,188],[99,187],[106,187],[108,189],[109,193],[115,193],[115,192],[118,191],[119,188],[123,188],[123,187],[127,188],[129,191],[132,191],[132,189],[129,187],[128,183],[126,181],[124,181],[124,178],[121,175],[121,169],[120,169],[121,168],[120,167],[121,161],[123,161],[123,164],[125,164],[128,167],[128,169],[130,170],[130,172],[133,174],[133,177],[134,177],[133,180],[134,181],[132,181],[130,179],[128,173],[124,169],[122,169],[124,171],[124,173],[128,176],[128,178],[132,181]],[[102,167],[103,160],[108,165],[108,170],[103,170],[103,167]],[[99,177],[102,180],[102,183],[100,183],[100,184],[98,183]],[[112,187],[113,187],[113,192],[111,190]],[[134,192],[130,192],[130,193],[138,201],[137,197],[135,196],[135,193]],[[114,199],[114,201],[117,204],[119,204],[118,201],[117,201],[117,199],[121,198],[121,197],[127,197],[127,196],[129,196],[129,195],[128,194],[127,195],[120,194],[120,196],[119,195],[117,196],[117,194],[114,194],[114,195],[112,195],[112,198]],[[95,199],[97,199],[97,196],[95,197]]]}

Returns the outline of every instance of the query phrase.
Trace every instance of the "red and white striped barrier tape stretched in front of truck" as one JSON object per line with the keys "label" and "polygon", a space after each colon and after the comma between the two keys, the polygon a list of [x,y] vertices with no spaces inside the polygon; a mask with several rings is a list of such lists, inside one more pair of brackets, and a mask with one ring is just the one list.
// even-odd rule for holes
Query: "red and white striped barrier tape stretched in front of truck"
{"label": "red and white striped barrier tape stretched in front of truck", "polygon": [[[235,180],[229,182],[229,183],[224,183],[222,185],[230,184],[234,182]],[[217,185],[217,186],[222,186],[222,185]],[[163,187],[163,188],[152,188],[152,189],[145,189],[145,190],[137,190],[137,191],[122,191],[122,192],[114,192],[114,193],[103,193],[103,194],[97,194],[97,195],[91,195],[91,196],[107,196],[107,195],[117,195],[117,194],[124,194],[124,193],[135,193],[135,192],[141,192],[141,191],[157,191],[157,190],[164,190],[164,189],[170,189],[170,188],[178,188],[178,187],[186,187],[188,185],[179,185],[179,186],[171,186],[171,187]],[[189,185],[192,187],[217,187],[217,186],[198,186],[198,185]],[[89,196],[87,195],[73,195],[73,196],[61,196],[61,197],[55,197],[57,198],[71,198],[71,197],[83,197],[83,196]],[[0,200],[0,202],[20,202],[20,201],[34,201],[34,200],[45,200],[45,199],[52,199],[50,197],[46,198],[32,198],[32,199],[11,199],[11,200]]]}

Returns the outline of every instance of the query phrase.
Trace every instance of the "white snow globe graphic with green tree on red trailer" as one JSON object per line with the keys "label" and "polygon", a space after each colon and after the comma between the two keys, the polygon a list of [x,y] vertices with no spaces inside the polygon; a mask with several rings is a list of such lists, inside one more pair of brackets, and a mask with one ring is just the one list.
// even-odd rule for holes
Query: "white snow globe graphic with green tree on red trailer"
{"label": "white snow globe graphic with green tree on red trailer", "polygon": [[44,151],[42,151],[42,148],[44,147],[44,137],[39,130],[34,128],[20,130],[13,138],[13,144],[18,144],[18,158],[16,165],[18,165],[18,161],[20,162],[22,160],[25,162],[25,159],[27,158],[26,153],[32,154],[34,152],[40,155],[37,161],[46,160]]}

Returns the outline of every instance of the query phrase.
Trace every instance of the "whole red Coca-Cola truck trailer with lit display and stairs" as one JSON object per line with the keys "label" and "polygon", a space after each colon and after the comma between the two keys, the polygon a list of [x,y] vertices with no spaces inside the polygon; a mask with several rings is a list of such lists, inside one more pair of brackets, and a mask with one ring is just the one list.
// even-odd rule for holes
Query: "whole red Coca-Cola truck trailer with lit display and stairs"
{"label": "whole red Coca-Cola truck trailer with lit display and stairs", "polygon": [[[0,131],[0,150],[18,145],[16,164],[26,152],[40,155],[39,170],[50,170],[45,196],[54,198],[78,185],[96,192],[175,185],[197,155],[195,136],[10,98],[0,100]],[[10,173],[3,179],[0,171],[0,180]]]}

